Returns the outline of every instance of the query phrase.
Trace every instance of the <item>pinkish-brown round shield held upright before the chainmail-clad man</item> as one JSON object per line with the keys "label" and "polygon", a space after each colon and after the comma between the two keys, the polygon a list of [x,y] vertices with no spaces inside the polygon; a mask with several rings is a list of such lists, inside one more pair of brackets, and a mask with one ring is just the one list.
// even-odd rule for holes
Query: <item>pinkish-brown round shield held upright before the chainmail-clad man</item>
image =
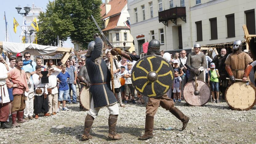
{"label": "pinkish-brown round shield held upright before the chainmail-clad man", "polygon": [[192,80],[184,86],[183,97],[190,106],[203,106],[205,105],[211,96],[211,91],[206,82],[197,79],[197,90],[199,95],[195,95],[195,81]]}

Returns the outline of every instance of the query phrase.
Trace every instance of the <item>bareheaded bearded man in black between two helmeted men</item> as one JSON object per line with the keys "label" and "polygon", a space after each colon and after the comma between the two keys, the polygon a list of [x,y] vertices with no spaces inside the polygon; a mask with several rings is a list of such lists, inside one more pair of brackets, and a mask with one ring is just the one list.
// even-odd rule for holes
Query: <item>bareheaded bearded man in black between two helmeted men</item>
{"label": "bareheaded bearded man in black between two helmeted men", "polygon": [[226,78],[229,77],[229,75],[227,74],[227,71],[225,69],[225,61],[226,61],[226,58],[227,58],[227,50],[225,48],[222,48],[221,49],[221,52],[220,54],[216,55],[212,62],[215,63],[215,68],[218,69],[219,71],[219,74],[220,74],[220,80],[219,80],[219,83],[220,83],[220,90],[222,92],[222,98],[225,99],[225,91],[226,91],[226,88],[228,86],[228,80]]}

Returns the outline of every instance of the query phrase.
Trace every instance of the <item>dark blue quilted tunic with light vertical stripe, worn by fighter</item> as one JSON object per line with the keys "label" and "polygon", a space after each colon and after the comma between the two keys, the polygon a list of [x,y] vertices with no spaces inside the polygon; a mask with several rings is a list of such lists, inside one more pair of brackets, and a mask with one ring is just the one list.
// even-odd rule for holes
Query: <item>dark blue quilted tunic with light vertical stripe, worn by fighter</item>
{"label": "dark blue quilted tunic with light vertical stripe, worn by fighter", "polygon": [[86,68],[91,84],[97,84],[91,85],[89,89],[90,95],[93,97],[94,108],[109,106],[117,102],[110,88],[110,71],[101,57],[102,47],[101,38],[96,37],[91,57],[86,59]]}

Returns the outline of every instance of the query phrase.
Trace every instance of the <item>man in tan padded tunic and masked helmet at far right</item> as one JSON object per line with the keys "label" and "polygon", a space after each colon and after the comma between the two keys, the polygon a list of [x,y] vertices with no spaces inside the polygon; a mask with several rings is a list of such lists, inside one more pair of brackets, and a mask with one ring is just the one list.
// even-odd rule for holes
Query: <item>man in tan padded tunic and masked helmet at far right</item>
{"label": "man in tan padded tunic and masked helmet at far right", "polygon": [[226,71],[229,74],[230,82],[235,82],[235,79],[242,79],[243,82],[249,80],[251,70],[250,63],[253,62],[248,54],[242,51],[242,42],[236,40],[233,44],[233,53],[231,53],[226,61]]}

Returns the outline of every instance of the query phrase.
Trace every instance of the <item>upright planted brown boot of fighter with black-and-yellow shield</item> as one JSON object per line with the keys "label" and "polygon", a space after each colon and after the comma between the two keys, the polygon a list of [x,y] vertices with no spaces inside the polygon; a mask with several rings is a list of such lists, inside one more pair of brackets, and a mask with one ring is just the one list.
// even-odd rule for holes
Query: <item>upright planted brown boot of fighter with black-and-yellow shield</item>
{"label": "upright planted brown boot of fighter with black-and-yellow shield", "polygon": [[145,122],[145,134],[138,138],[138,140],[146,140],[153,138],[153,127],[154,127],[154,117],[146,115]]}

